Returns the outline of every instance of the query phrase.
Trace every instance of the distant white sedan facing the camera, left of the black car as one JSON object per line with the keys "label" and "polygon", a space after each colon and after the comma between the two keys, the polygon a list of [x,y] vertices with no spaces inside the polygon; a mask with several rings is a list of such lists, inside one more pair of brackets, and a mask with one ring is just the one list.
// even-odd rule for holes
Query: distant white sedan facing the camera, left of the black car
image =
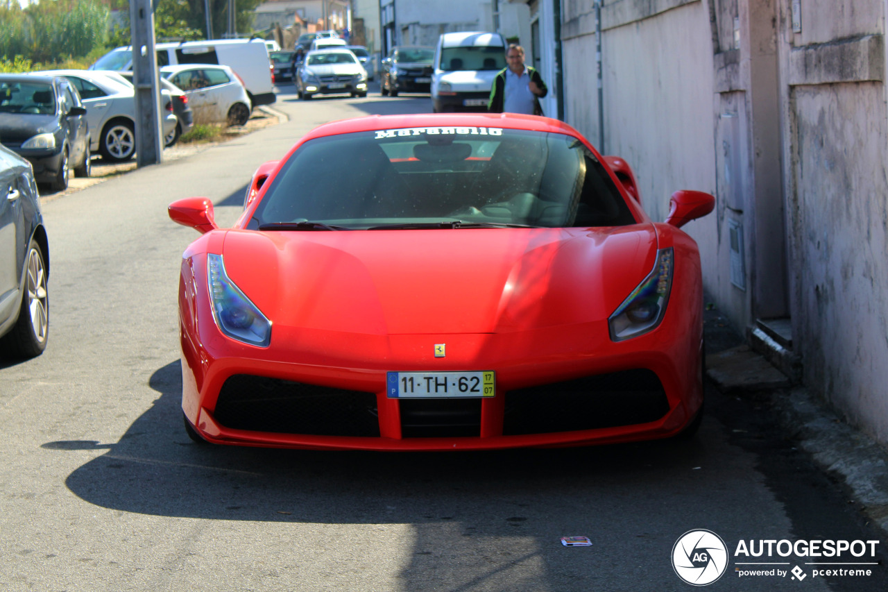
{"label": "distant white sedan facing the camera, left of the black car", "polygon": [[329,49],[305,54],[296,71],[296,92],[309,100],[316,94],[349,93],[367,96],[367,72],[357,56],[346,49]]}

